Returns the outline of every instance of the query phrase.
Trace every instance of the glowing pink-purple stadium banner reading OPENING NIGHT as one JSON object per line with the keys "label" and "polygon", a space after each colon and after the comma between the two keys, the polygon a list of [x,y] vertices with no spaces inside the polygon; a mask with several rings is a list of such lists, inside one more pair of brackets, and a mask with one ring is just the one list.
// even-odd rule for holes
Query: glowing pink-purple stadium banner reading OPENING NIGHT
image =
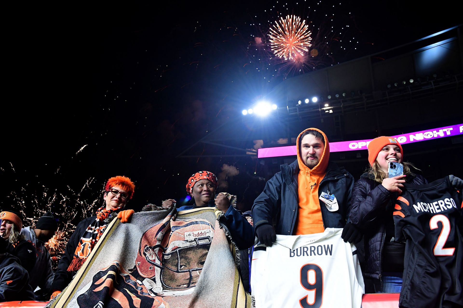
{"label": "glowing pink-purple stadium banner reading OPENING NIGHT", "polygon": [[[461,134],[463,134],[463,124],[433,128],[433,129],[428,129],[428,130],[414,132],[414,133],[396,135],[392,137],[397,139],[397,141],[399,141],[401,145],[404,145],[407,143],[432,140],[432,139],[438,139],[438,138],[450,137],[450,136],[457,136]],[[371,140],[373,139],[330,142],[330,152],[367,150],[368,149],[367,146]],[[293,156],[293,155],[296,155],[295,145],[257,149],[258,158]]]}

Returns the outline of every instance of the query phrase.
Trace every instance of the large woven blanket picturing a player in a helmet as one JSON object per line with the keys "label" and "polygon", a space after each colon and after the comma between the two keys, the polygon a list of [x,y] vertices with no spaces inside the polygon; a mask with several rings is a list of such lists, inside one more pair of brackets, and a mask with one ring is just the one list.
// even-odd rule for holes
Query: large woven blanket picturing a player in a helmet
{"label": "large woven blanket picturing a player in a helmet", "polygon": [[113,220],[51,307],[253,308],[222,215],[174,208]]}

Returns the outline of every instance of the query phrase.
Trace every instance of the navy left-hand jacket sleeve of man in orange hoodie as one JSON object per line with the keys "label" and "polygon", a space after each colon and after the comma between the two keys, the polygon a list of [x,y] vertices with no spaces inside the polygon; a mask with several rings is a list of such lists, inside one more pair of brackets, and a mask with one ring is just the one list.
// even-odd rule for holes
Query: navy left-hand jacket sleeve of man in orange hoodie
{"label": "navy left-hand jacket sleeve of man in orange hoodie", "polygon": [[254,200],[254,205],[252,205],[254,228],[262,224],[272,224],[282,197],[282,180],[282,173],[276,173],[267,181],[263,192]]}

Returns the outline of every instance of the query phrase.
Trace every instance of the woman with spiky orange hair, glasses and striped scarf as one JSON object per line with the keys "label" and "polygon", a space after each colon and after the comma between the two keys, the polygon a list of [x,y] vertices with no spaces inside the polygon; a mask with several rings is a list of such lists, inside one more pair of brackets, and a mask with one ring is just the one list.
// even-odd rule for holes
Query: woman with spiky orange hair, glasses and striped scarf
{"label": "woman with spiky orange hair, glasses and striped scarf", "polygon": [[75,272],[81,268],[103,235],[106,226],[124,209],[127,201],[132,199],[134,190],[135,184],[125,176],[114,176],[106,182],[103,206],[96,211],[95,216],[85,218],[77,225],[66,245],[51,285],[51,298],[59,295],[71,282]]}

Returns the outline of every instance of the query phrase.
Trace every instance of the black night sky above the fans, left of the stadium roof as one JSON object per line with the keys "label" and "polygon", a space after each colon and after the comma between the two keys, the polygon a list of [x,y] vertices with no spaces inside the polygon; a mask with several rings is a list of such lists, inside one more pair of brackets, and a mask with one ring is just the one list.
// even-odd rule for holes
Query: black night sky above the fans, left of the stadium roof
{"label": "black night sky above the fans, left of the stadium roof", "polygon": [[[179,201],[189,175],[204,169],[219,175],[227,164],[239,175],[223,173],[229,187],[222,190],[250,209],[265,183],[256,160],[175,157],[224,121],[236,121],[285,78],[462,19],[450,1],[373,2],[11,7],[4,29],[1,208],[33,215],[49,205],[66,216],[67,207],[92,207],[97,199],[95,209],[106,179],[126,175],[137,186],[128,207],[138,211],[148,202]],[[269,24],[288,14],[309,23],[317,50],[299,66],[269,50]]]}

